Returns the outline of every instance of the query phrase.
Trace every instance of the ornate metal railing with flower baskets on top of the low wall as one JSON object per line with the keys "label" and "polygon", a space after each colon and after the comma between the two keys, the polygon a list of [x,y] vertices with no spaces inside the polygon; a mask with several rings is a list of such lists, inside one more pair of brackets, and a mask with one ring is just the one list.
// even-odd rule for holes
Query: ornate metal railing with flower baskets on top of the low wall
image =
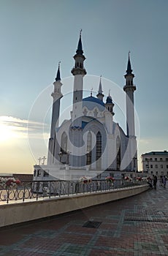
{"label": "ornate metal railing with flower baskets on top of the low wall", "polygon": [[1,187],[0,203],[10,201],[39,200],[85,193],[107,192],[113,189],[134,187],[147,184],[146,181],[126,181],[118,179],[109,183],[105,180],[92,180],[90,183],[79,181],[32,181],[22,182],[18,187]]}

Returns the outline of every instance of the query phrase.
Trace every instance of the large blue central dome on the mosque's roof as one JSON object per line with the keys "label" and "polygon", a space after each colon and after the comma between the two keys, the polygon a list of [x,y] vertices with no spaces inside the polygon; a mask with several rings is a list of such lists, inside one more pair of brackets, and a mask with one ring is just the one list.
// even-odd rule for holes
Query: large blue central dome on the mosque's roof
{"label": "large blue central dome on the mosque's roof", "polygon": [[104,102],[101,99],[95,98],[93,96],[89,96],[83,99],[83,107],[92,110],[97,107],[99,110],[103,111],[105,108]]}

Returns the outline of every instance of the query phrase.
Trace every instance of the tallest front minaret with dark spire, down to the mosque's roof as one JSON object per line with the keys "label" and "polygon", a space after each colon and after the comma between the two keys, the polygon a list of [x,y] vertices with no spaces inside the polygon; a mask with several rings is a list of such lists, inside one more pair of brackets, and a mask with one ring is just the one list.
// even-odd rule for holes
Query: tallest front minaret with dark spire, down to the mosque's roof
{"label": "tallest front minaret with dark spire, down to the mosque's roof", "polygon": [[83,62],[85,61],[85,56],[83,55],[83,45],[80,39],[77,45],[75,59],[75,67],[72,69],[72,75],[74,75],[74,94],[73,94],[73,110],[72,110],[72,124],[74,127],[82,126],[83,116],[83,77],[86,75],[86,71],[83,67]]}

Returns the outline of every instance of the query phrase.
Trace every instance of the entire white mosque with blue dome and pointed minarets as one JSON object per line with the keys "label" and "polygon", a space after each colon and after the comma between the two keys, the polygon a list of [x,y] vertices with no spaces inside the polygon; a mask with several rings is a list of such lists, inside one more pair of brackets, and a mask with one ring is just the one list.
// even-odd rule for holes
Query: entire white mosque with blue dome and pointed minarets
{"label": "entire white mosque with blue dome and pointed minarets", "polygon": [[83,98],[83,78],[85,56],[80,38],[74,56],[75,66],[73,105],[71,118],[59,125],[61,98],[60,66],[53,83],[53,113],[48,144],[47,165],[34,165],[34,180],[54,178],[77,180],[81,176],[104,178],[116,173],[137,172],[137,139],[134,128],[134,74],[130,56],[127,64],[126,85],[126,134],[113,121],[112,97],[104,99],[102,78],[96,97]]}

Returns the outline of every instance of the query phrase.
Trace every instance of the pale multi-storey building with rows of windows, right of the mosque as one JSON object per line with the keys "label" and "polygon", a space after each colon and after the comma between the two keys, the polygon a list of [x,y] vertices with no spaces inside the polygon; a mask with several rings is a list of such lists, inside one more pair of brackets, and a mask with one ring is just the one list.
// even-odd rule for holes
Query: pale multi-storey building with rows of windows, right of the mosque
{"label": "pale multi-storey building with rows of windows, right of the mosque", "polygon": [[156,176],[168,176],[168,152],[151,151],[142,154],[142,170]]}

